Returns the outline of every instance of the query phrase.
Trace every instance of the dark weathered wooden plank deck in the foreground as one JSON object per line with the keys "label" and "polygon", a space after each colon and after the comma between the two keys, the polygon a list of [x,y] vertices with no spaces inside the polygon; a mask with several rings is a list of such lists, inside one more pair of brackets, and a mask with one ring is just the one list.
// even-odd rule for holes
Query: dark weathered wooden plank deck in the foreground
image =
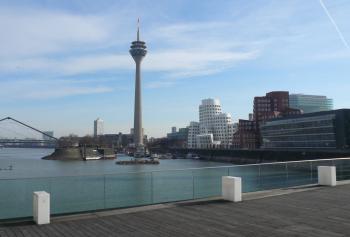
{"label": "dark weathered wooden plank deck in the foreground", "polygon": [[213,201],[50,225],[0,225],[19,236],[350,236],[350,185],[228,203]]}

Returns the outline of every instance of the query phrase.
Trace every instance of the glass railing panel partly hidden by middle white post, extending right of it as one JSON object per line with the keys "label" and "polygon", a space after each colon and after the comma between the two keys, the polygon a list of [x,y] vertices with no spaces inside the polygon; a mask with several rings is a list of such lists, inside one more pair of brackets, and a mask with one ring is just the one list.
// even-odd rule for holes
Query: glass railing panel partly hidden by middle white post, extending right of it
{"label": "glass railing panel partly hidden by middle white post, extending right of it", "polygon": [[260,190],[259,165],[235,166],[229,168],[229,175],[242,178],[242,192]]}

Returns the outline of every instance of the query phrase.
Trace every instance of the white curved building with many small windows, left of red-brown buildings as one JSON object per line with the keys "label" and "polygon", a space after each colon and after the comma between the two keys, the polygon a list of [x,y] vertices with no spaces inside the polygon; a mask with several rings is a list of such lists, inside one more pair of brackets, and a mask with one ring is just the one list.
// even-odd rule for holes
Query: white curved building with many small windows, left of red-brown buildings
{"label": "white curved building with many small windows, left of red-brown buildings", "polygon": [[[191,125],[190,125],[191,128]],[[195,132],[195,129],[193,129]],[[222,113],[220,100],[204,99],[199,105],[199,131],[196,135],[194,147],[194,134],[189,133],[188,148],[210,148],[232,145],[234,125],[228,113]]]}

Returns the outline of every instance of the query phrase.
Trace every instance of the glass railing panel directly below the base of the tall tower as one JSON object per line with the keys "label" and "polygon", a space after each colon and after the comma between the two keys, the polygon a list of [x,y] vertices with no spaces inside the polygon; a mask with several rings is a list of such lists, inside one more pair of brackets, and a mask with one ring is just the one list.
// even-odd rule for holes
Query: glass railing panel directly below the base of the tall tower
{"label": "glass railing panel directly below the base of the tall tower", "polygon": [[152,174],[130,173],[105,176],[106,208],[152,203]]}

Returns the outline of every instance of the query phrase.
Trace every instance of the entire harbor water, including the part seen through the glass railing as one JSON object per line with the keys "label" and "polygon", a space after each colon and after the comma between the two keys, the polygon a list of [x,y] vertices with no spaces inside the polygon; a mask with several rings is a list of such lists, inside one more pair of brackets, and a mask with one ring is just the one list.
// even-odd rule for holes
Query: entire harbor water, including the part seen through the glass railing
{"label": "entire harbor water, including the part seen through the glass railing", "polygon": [[176,159],[130,166],[40,159],[51,152],[0,150],[0,220],[32,216],[35,191],[50,193],[52,214],[65,214],[218,197],[223,176],[241,177],[243,192],[316,184],[320,165],[336,166],[338,180],[350,178],[349,158],[253,165]]}

